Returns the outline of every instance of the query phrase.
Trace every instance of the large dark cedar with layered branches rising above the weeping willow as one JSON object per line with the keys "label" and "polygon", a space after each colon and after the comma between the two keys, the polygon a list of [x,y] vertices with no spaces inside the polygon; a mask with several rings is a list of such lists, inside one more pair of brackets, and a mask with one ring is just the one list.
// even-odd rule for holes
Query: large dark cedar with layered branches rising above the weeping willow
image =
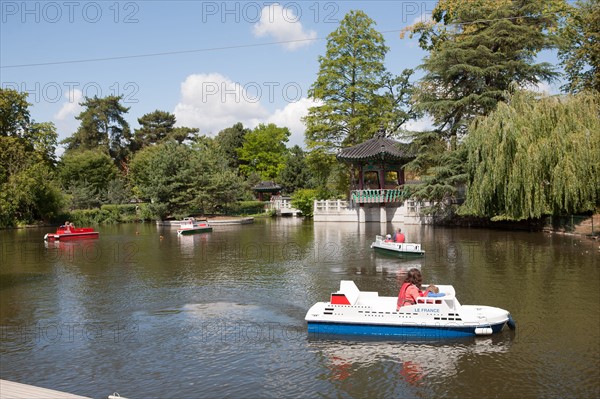
{"label": "large dark cedar with layered branches rising above the weeping willow", "polygon": [[555,29],[563,0],[444,0],[436,5],[434,24],[417,24],[412,33],[429,50],[416,101],[437,130],[456,148],[455,137],[469,123],[487,115],[506,98],[513,85],[551,81],[557,74],[535,56],[555,45]]}

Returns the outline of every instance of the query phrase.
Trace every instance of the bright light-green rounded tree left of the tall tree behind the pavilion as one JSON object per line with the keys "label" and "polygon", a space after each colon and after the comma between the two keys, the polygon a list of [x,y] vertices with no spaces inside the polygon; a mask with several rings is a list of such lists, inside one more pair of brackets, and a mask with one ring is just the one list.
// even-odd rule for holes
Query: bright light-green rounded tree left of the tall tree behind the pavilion
{"label": "bright light-green rounded tree left of the tall tree behind the pavilion", "polygon": [[290,134],[287,127],[277,127],[273,123],[260,124],[247,133],[244,144],[237,151],[240,171],[246,176],[256,172],[262,180],[274,180],[284,167],[285,143]]}

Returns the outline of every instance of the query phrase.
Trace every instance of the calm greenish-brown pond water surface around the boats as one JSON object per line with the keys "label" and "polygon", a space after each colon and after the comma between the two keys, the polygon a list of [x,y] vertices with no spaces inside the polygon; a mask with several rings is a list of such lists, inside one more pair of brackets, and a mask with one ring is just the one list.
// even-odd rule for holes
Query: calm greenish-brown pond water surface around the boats
{"label": "calm greenish-brown pond water surface around the boats", "polygon": [[[299,219],[178,237],[153,224],[44,244],[0,231],[1,378],[105,398],[597,398],[597,241],[404,226],[423,258],[374,253],[392,225]],[[162,237],[162,238],[161,238]],[[403,271],[516,332],[445,341],[309,337],[339,281],[395,296]]]}

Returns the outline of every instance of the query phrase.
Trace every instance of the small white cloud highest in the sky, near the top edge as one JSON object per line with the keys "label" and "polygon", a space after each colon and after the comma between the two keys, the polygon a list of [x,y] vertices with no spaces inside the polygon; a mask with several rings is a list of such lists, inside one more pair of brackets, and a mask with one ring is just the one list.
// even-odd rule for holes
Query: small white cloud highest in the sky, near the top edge
{"label": "small white cloud highest in the sky, near the top edge", "polygon": [[254,25],[256,37],[272,36],[288,50],[295,50],[311,43],[310,39],[317,37],[317,32],[304,30],[300,18],[289,7],[271,4],[261,11],[260,21]]}

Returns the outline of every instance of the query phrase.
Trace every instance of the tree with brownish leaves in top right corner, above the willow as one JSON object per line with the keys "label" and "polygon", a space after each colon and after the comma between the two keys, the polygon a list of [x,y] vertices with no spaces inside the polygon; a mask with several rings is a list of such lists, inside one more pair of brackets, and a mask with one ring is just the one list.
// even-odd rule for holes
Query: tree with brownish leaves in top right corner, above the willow
{"label": "tree with brownish leaves in top right corner, above the willow", "polygon": [[600,2],[581,0],[569,6],[558,56],[565,69],[564,91],[600,92]]}

